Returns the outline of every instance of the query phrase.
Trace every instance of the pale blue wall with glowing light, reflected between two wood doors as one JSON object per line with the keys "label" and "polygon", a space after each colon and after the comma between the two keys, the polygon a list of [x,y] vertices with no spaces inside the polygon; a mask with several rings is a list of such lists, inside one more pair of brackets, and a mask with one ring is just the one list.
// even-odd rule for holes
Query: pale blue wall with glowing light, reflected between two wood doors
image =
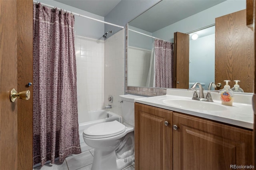
{"label": "pale blue wall with glowing light, reflected between two wood doors", "polygon": [[215,79],[215,34],[190,40],[189,60],[189,82],[205,83],[207,90]]}

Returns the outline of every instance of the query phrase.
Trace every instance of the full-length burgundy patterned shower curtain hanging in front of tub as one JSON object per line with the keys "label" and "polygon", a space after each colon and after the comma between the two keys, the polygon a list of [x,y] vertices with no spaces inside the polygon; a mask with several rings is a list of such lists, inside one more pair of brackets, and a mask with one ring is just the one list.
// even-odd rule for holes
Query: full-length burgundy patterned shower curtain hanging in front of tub
{"label": "full-length burgundy patterned shower curtain hanging in front of tub", "polygon": [[33,161],[43,166],[81,153],[74,16],[39,3],[33,21]]}

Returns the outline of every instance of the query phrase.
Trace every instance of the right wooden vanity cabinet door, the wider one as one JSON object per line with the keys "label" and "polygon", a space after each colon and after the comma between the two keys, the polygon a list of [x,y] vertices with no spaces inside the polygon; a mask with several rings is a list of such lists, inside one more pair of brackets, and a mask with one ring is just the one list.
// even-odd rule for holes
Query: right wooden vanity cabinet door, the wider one
{"label": "right wooden vanity cabinet door, the wider one", "polygon": [[252,165],[252,131],[178,113],[173,113],[173,125],[178,126],[173,130],[173,169]]}

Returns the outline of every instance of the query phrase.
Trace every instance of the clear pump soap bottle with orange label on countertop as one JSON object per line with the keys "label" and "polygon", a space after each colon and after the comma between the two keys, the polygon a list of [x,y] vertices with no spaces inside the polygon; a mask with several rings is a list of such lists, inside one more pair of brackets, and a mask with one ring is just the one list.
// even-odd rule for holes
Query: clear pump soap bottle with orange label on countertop
{"label": "clear pump soap bottle with orange label on countertop", "polygon": [[222,101],[222,105],[232,106],[234,101],[234,92],[230,89],[230,85],[228,85],[230,80],[224,81],[226,81],[226,85],[224,85],[224,88],[220,91],[220,99]]}

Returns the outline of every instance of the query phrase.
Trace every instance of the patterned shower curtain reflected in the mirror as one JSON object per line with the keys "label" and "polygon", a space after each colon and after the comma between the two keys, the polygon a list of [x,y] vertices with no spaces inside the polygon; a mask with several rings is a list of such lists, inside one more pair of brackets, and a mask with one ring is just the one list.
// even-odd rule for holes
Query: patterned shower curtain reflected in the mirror
{"label": "patterned shower curtain reflected in the mirror", "polygon": [[155,39],[156,87],[172,88],[174,51],[173,43]]}

